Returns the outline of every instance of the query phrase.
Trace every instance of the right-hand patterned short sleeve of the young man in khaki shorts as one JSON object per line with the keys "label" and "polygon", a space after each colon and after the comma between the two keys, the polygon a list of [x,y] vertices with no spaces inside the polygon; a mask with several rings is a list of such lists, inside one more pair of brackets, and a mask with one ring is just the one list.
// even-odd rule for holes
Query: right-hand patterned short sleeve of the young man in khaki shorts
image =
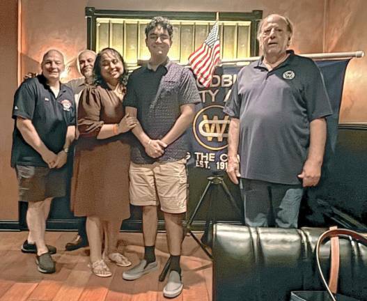
{"label": "right-hand patterned short sleeve of the young man in khaki shorts", "polygon": [[194,76],[187,68],[182,70],[178,99],[180,105],[196,104],[201,102]]}

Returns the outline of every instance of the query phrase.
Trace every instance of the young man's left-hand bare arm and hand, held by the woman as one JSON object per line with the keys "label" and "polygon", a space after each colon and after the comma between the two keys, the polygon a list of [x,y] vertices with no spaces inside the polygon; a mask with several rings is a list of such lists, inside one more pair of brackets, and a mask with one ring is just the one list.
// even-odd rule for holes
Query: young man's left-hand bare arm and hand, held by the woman
{"label": "young man's left-hand bare arm and hand, held by the woman", "polygon": [[[134,107],[126,107],[126,114],[129,114],[132,117],[136,118],[137,109]],[[146,153],[150,157],[160,157],[164,154],[164,148],[167,145],[161,140],[152,140],[150,137],[144,132],[143,128],[139,121],[136,119],[136,126],[132,129],[132,133],[139,139],[140,143],[144,146]]]}

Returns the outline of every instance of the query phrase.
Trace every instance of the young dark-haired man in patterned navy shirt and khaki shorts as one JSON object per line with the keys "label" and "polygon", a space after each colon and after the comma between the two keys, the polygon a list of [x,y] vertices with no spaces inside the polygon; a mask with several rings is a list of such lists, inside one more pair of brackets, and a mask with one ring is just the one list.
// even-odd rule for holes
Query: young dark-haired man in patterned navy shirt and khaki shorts
{"label": "young dark-haired man in patterned navy shirt and khaki shorts", "polygon": [[201,101],[192,73],[169,61],[172,34],[172,25],[163,17],[155,17],[147,25],[150,60],[147,67],[135,70],[130,76],[123,102],[127,113],[139,120],[132,130],[139,141],[132,146],[130,201],[143,207],[145,246],[143,260],[123,272],[123,278],[138,279],[157,269],[155,236],[159,203],[171,254],[171,271],[163,290],[168,298],[179,295],[183,287],[180,254],[182,215],[187,203],[188,149],[183,134],[194,118],[194,104]]}

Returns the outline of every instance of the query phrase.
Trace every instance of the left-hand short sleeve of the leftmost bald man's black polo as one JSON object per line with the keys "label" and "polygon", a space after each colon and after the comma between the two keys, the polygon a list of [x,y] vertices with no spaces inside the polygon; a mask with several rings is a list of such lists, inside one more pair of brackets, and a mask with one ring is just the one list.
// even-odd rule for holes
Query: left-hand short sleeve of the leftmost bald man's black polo
{"label": "left-hand short sleeve of the leftmost bald man's black polo", "polygon": [[36,107],[37,95],[31,89],[30,82],[35,79],[28,79],[23,82],[14,95],[13,118],[22,117],[25,119],[33,119]]}

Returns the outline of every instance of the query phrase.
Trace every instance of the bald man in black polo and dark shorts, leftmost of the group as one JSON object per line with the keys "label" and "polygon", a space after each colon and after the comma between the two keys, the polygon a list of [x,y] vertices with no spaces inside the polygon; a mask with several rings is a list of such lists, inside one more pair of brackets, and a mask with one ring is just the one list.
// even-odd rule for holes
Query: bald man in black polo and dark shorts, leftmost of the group
{"label": "bald man in black polo and dark shorts, leftmost of the group", "polygon": [[[60,83],[63,54],[52,49],[42,58],[42,74],[28,79],[14,97],[11,164],[17,171],[19,201],[28,201],[29,236],[22,249],[36,253],[40,272],[55,272],[45,224],[52,198],[65,195],[68,148],[75,138],[75,101]],[[63,168],[64,167],[64,168]]]}

